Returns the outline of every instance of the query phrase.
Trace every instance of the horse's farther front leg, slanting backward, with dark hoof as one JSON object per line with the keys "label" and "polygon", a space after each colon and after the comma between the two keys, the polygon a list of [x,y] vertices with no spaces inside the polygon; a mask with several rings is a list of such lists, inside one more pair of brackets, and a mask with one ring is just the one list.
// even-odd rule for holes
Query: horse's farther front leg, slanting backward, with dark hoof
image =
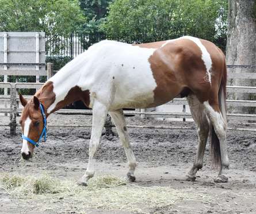
{"label": "horse's farther front leg, slanting backward, with dark hoof", "polygon": [[131,144],[129,143],[129,135],[127,132],[127,127],[125,124],[124,113],[123,110],[117,110],[115,112],[109,112],[111,118],[116,125],[117,132],[119,133],[120,141],[124,146],[125,154],[128,160],[129,171],[127,176],[129,181],[135,181],[134,171],[137,166],[135,156],[132,152]]}

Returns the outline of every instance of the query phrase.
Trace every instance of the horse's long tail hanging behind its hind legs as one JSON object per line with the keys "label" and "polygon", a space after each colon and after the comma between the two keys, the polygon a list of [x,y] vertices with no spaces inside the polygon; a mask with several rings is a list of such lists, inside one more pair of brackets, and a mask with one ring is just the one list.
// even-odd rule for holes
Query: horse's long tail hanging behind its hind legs
{"label": "horse's long tail hanging behind its hind legs", "polygon": [[[227,124],[227,104],[226,104],[227,67],[226,67],[226,60],[224,55],[223,55],[223,58],[224,58],[223,74],[221,78],[218,97],[219,97],[220,113],[224,119],[224,123]],[[220,141],[216,135],[213,125],[211,125],[210,139],[211,139],[211,158],[213,163],[212,165],[213,167],[219,167],[221,166]]]}

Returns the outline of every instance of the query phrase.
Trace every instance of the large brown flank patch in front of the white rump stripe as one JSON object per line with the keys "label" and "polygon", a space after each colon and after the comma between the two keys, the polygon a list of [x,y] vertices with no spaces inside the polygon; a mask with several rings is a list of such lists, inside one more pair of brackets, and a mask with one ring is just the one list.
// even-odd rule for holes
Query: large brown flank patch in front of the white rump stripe
{"label": "large brown flank patch in front of the white rump stripe", "polygon": [[[193,41],[178,39],[165,42],[144,44],[141,47],[157,47],[158,49],[148,59],[152,74],[156,81],[154,90],[154,104],[161,105],[172,100],[177,95],[186,96],[190,91],[198,94],[200,101],[206,101],[205,89],[209,82],[204,81],[207,74],[201,59],[201,49]],[[198,92],[201,92],[198,93]]]}

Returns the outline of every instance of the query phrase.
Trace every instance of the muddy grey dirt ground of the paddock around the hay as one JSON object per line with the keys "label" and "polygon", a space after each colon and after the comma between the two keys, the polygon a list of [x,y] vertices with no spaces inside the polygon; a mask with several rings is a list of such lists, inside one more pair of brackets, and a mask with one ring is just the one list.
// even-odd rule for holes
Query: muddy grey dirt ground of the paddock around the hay
{"label": "muddy grey dirt ground of the paddock around the hay", "polygon": [[[0,124],[9,123],[8,117],[0,116]],[[91,124],[91,116],[68,116],[54,114],[49,117],[49,125]],[[192,123],[142,120],[139,117],[127,118],[128,125],[175,125],[191,126]],[[231,124],[231,127],[235,125]],[[242,124],[239,127],[245,127]],[[249,125],[255,128],[255,124]],[[115,129],[113,129],[115,131]],[[211,169],[209,144],[204,158],[204,166],[198,171],[194,182],[186,181],[186,174],[193,165],[196,154],[196,130],[180,129],[129,129],[133,152],[138,167],[135,171],[136,184],[140,186],[170,186],[182,190],[189,189],[194,194],[198,190],[212,198],[210,204],[203,201],[180,200],[174,205],[147,210],[148,213],[256,213],[256,135],[255,132],[228,132],[228,153],[231,161],[228,183],[216,184],[213,179],[216,170]],[[48,140],[36,148],[33,162],[21,166],[18,162],[21,150],[21,132],[9,135],[9,127],[0,127],[0,173],[38,175],[47,172],[60,179],[78,179],[86,170],[89,150],[90,128],[48,128]],[[102,136],[96,155],[95,176],[113,174],[124,176],[127,161],[117,136]],[[75,205],[68,211],[57,209],[41,213],[79,213]],[[31,200],[35,209],[0,189],[0,213],[40,213],[37,204]],[[87,209],[86,213],[129,213],[125,211],[104,211]]]}

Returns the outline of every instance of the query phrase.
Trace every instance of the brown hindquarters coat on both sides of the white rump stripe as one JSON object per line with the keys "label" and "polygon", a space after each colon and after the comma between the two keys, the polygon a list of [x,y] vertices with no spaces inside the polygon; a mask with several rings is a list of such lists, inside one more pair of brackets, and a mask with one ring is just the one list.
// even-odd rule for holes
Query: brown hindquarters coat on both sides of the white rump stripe
{"label": "brown hindquarters coat on both sides of the white rump stripe", "polygon": [[[201,49],[192,40],[177,39],[169,40],[168,43],[159,41],[137,44],[142,48],[156,48],[148,59],[157,85],[152,106],[164,104],[179,94],[186,97],[189,93],[194,93],[201,103],[209,100],[214,108],[214,102],[217,101],[216,91],[219,91],[221,82],[223,53],[215,44],[207,40],[200,41],[212,59],[212,84],[207,78]],[[162,47],[163,44],[165,45]]]}

